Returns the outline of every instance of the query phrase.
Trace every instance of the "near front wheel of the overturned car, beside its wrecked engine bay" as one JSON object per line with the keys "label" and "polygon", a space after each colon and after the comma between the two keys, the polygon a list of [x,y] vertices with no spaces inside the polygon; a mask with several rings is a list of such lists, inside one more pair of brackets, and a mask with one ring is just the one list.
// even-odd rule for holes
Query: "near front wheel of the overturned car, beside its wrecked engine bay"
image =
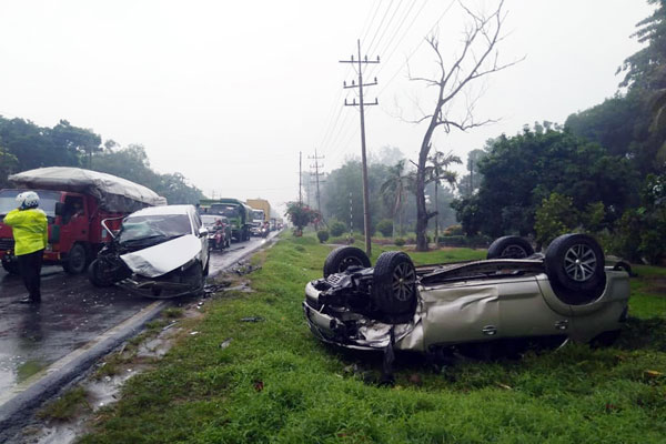
{"label": "near front wheel of the overturned car, beside its wrecked engine bay", "polygon": [[380,254],[374,266],[371,299],[373,305],[389,316],[414,312],[416,270],[406,253],[387,251]]}

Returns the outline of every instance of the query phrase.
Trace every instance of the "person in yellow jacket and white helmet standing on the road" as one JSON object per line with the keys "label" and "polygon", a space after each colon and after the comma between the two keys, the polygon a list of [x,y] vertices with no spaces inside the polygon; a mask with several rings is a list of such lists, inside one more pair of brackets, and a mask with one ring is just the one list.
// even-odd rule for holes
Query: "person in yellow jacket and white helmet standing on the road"
{"label": "person in yellow jacket and white helmet standing on the road", "polygon": [[19,302],[39,303],[41,264],[49,239],[49,223],[47,214],[38,208],[39,195],[34,191],[20,193],[17,195],[17,202],[19,208],[7,213],[3,222],[12,229],[14,255],[28,289],[28,296]]}

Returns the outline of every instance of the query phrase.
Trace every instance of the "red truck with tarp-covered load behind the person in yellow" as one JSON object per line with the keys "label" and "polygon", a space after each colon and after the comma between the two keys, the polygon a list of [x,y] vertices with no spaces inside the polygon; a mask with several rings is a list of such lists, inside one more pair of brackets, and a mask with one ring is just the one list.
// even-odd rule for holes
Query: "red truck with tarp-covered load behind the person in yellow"
{"label": "red truck with tarp-covered load behind the person in yellow", "polygon": [[2,223],[17,206],[16,196],[32,190],[49,220],[49,244],[44,264],[61,264],[68,273],[85,271],[88,263],[107,242],[101,225],[120,229],[122,218],[144,206],[167,204],[164,198],[134,182],[111,174],[78,168],[51,167],[9,176],[13,189],[0,190],[0,259],[9,273],[18,273],[11,228]]}

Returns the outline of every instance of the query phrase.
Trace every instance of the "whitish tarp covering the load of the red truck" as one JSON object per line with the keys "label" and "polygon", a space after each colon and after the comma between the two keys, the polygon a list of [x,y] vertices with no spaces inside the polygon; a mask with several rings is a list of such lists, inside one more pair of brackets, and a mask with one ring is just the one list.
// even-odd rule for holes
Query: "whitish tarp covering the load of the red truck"
{"label": "whitish tarp covering the load of the red truck", "polygon": [[71,191],[91,194],[111,212],[133,212],[144,206],[165,205],[154,191],[115,175],[70,167],[49,167],[9,176],[17,188]]}

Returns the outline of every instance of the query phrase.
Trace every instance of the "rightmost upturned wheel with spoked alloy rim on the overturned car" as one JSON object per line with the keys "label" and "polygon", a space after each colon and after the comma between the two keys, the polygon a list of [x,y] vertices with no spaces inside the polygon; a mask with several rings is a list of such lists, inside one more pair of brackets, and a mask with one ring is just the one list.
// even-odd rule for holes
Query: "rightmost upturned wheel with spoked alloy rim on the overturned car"
{"label": "rightmost upturned wheel with spoked alloy rim on the overturned car", "polygon": [[587,234],[563,234],[548,245],[544,259],[555,294],[567,304],[587,304],[604,292],[604,252]]}

